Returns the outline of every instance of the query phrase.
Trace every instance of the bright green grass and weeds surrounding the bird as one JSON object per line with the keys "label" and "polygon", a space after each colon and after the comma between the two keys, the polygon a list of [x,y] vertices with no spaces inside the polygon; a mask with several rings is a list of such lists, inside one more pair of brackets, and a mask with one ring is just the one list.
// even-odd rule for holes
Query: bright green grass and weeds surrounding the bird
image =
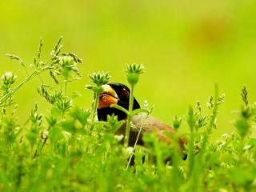
{"label": "bright green grass and weeds surrounding the bird", "polygon": [[[30,69],[21,58],[9,54],[26,69],[27,78],[17,84],[17,76],[6,72],[1,82],[0,118],[0,190],[1,191],[254,191],[256,189],[256,106],[248,102],[248,90],[242,88],[244,105],[234,119],[236,132],[211,139],[224,95],[215,86],[209,98],[208,111],[201,102],[190,106],[182,118],[174,118],[179,130],[189,126],[186,161],[178,146],[168,146],[154,134],[147,135],[145,146],[132,148],[120,143],[114,135],[123,122],[112,115],[107,122],[95,119],[98,94],[109,82],[105,72],[90,74],[96,97],[90,109],[74,106],[79,93],[67,87],[79,80],[82,60],[73,53],[62,53],[62,38],[51,51],[47,62],[41,59],[43,42]],[[127,80],[133,93],[143,68],[127,67]],[[48,73],[54,86],[46,85],[41,74]],[[28,120],[17,120],[14,95],[32,78],[40,78],[38,94],[50,104],[47,114],[35,105]],[[36,90],[35,90],[36,91]],[[148,104],[142,110],[122,109],[128,117],[150,113]],[[133,129],[127,122],[127,131]],[[126,134],[126,137],[129,134]],[[178,135],[177,135],[178,136]],[[174,141],[178,139],[174,136]],[[127,141],[128,138],[126,138]],[[134,155],[134,166],[127,166]],[[164,160],[171,157],[171,161]]]}

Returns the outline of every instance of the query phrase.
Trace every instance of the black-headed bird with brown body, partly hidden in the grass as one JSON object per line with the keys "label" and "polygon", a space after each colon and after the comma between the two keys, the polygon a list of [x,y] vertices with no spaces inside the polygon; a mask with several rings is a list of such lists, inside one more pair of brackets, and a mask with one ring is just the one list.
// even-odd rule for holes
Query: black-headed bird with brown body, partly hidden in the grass
{"label": "black-headed bird with brown body, partly hidden in the grass", "polygon": [[[103,85],[103,92],[100,94],[98,102],[98,120],[106,121],[107,115],[115,114],[118,116],[118,120],[126,120],[127,116],[121,110],[116,108],[111,108],[112,104],[117,104],[118,106],[124,107],[126,110],[129,108],[129,98],[130,90],[127,86],[122,83],[108,83]],[[133,110],[140,109],[140,105],[136,98],[134,98]],[[157,134],[160,141],[167,142],[171,144],[172,137],[174,134],[177,134],[177,131],[174,130],[171,126],[166,125],[166,123],[161,122],[157,118],[148,116],[146,119],[142,119],[142,115],[134,115],[131,119],[134,124],[133,129],[130,130],[129,146],[134,146],[136,139],[138,138],[138,145],[143,146],[143,136],[145,134]],[[141,127],[141,133],[136,127]],[[126,124],[119,128],[115,134],[125,134],[126,133]],[[179,146],[184,150],[184,146],[187,143],[185,137],[178,138]],[[186,158],[186,157],[185,157]]]}

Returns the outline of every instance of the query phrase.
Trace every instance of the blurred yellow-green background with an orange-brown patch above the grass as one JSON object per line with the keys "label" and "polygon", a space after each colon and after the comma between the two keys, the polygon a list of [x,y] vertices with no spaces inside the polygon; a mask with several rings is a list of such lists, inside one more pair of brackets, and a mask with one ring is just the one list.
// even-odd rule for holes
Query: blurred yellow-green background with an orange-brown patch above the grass
{"label": "blurred yellow-green background with an orange-brown patch above the grass", "polygon": [[[154,116],[167,123],[186,114],[197,99],[205,106],[217,82],[226,93],[219,136],[234,129],[233,110],[242,105],[243,85],[250,102],[256,100],[255,10],[255,1],[242,0],[1,0],[0,72],[13,71],[22,81],[25,71],[5,54],[18,54],[29,65],[40,37],[42,56],[49,58],[63,35],[63,50],[84,61],[82,81],[70,87],[82,93],[75,104],[90,106],[93,95],[84,85],[91,72],[109,71],[113,82],[126,82],[126,63],[142,63],[146,74],[135,95],[154,105]],[[35,102],[47,113],[49,106],[37,93],[39,82],[34,79],[15,94],[19,122],[26,121]]]}

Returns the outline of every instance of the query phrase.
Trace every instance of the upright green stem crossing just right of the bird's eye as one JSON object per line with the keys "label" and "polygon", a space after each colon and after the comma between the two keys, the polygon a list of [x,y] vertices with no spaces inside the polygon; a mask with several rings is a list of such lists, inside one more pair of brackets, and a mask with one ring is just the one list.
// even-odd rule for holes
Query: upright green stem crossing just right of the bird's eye
{"label": "upright green stem crossing just right of the bird's eye", "polygon": [[129,110],[127,115],[127,122],[126,122],[126,135],[125,135],[125,147],[129,144],[129,137],[130,137],[130,122],[132,118],[132,111],[134,106],[134,85],[130,87],[130,98],[129,98]]}

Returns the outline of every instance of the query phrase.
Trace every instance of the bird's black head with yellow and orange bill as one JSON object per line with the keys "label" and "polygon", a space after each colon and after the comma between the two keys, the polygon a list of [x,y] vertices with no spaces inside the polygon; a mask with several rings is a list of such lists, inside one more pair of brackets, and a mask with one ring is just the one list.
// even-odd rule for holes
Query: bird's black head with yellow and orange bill
{"label": "bird's black head with yellow and orange bill", "polygon": [[[98,101],[98,120],[106,121],[108,114],[115,114],[118,120],[125,119],[127,116],[121,110],[110,108],[112,104],[124,107],[126,110],[129,108],[130,90],[122,83],[111,82],[103,85],[103,92],[100,94]],[[140,106],[134,98],[133,110],[139,109]]]}

